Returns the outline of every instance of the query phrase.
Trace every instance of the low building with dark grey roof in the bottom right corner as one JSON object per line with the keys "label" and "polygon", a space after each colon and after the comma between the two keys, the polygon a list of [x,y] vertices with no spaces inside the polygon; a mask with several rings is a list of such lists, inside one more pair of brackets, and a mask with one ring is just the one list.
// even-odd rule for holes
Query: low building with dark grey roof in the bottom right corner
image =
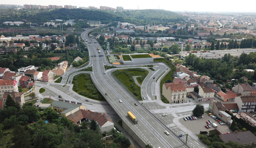
{"label": "low building with dark grey roof in the bottom right corner", "polygon": [[243,146],[249,146],[256,144],[256,136],[251,131],[234,132],[230,134],[218,135],[224,143],[232,141],[233,143],[239,143]]}

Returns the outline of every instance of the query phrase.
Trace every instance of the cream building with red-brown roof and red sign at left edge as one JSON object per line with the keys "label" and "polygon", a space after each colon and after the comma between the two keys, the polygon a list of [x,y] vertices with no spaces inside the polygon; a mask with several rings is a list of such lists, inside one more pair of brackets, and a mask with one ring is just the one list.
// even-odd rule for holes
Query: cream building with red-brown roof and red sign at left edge
{"label": "cream building with red-brown roof and red sign at left edge", "polygon": [[3,98],[4,92],[18,92],[17,81],[14,80],[2,80],[0,79],[0,99]]}

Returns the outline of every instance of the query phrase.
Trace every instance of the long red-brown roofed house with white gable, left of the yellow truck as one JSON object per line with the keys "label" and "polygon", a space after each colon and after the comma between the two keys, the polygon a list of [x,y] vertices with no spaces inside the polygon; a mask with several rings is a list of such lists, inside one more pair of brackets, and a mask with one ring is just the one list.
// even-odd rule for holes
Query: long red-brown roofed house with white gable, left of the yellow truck
{"label": "long red-brown roofed house with white gable, left of the yellow truck", "polygon": [[114,122],[108,116],[106,116],[106,114],[91,112],[90,110],[80,109],[66,117],[67,119],[72,120],[73,123],[78,124],[80,124],[82,121],[91,122],[92,120],[95,120],[101,132],[111,132],[114,128]]}

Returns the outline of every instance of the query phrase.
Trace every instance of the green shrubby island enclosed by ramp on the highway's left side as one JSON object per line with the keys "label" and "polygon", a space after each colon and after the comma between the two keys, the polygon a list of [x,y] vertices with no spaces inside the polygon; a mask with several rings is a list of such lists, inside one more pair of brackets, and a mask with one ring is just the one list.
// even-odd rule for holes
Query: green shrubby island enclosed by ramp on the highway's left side
{"label": "green shrubby island enclosed by ramp on the highway's left side", "polygon": [[[98,100],[98,101],[106,101],[105,98],[101,95],[101,93],[96,89],[93,82],[91,81],[90,74],[79,74],[76,75],[78,78],[73,78],[72,84],[73,90],[84,97]],[[78,89],[77,89],[78,88]],[[77,91],[78,90],[78,91]]]}

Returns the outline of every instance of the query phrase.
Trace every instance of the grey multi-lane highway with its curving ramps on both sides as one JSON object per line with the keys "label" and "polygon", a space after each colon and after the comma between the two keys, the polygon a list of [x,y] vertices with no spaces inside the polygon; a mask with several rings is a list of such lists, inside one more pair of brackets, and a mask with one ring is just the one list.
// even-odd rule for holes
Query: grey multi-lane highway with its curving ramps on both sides
{"label": "grey multi-lane highway with its curving ramps on both sides", "polygon": [[[194,148],[204,148],[200,142],[195,140],[194,138],[188,138],[187,145],[184,143],[185,137],[179,138],[177,135],[171,132],[171,129],[167,127],[167,122],[163,120],[159,120],[156,118],[151,112],[148,111],[144,106],[145,104],[140,104],[136,99],[134,99],[119,83],[116,81],[115,78],[111,75],[111,72],[118,69],[109,69],[105,70],[104,65],[111,65],[107,63],[107,59],[104,55],[104,51],[101,49],[101,46],[95,39],[88,38],[88,33],[93,29],[88,29],[81,34],[81,38],[85,41],[91,42],[87,44],[87,48],[89,51],[89,61],[87,66],[78,69],[70,69],[66,72],[62,77],[62,81],[59,85],[51,85],[54,84],[43,84],[39,83],[40,87],[44,87],[49,91],[55,92],[56,97],[60,94],[62,98],[69,98],[69,101],[74,102],[82,102],[86,106],[94,106],[97,108],[95,111],[102,111],[108,112],[109,107],[111,106],[117,115],[123,120],[123,122],[127,123],[129,127],[137,134],[140,135],[142,141],[146,144],[152,145],[154,148],[187,148],[187,147],[194,147]],[[95,43],[94,43],[95,42]],[[101,54],[98,53],[97,47],[100,48]],[[103,55],[103,57],[99,57],[99,55]],[[146,69],[149,71],[147,77],[144,79],[141,87],[141,94],[145,97],[143,102],[155,103],[155,91],[157,90],[156,87],[156,80],[164,72],[168,72],[170,69],[163,63],[152,63],[154,65],[152,71],[145,67],[145,65],[136,65],[136,66],[143,66],[141,68]],[[79,71],[86,67],[92,66],[93,72],[85,72]],[[115,65],[118,67],[118,65]],[[123,69],[125,66],[134,66],[134,65],[119,65],[120,69]],[[122,67],[122,68],[121,68]],[[78,72],[79,71],[79,72]],[[104,74],[106,72],[106,74]],[[69,80],[72,81],[73,76],[79,73],[89,73],[91,76],[92,81],[94,82],[97,89],[101,92],[101,94],[105,97],[107,102],[100,102],[96,100],[90,99],[89,102],[86,102],[83,97],[79,94],[72,91],[72,85],[69,83]],[[154,79],[155,77],[155,79]],[[160,80],[160,79],[159,79]],[[66,87],[62,87],[66,85]],[[104,95],[108,93],[108,95]],[[54,96],[55,97],[55,96]],[[67,100],[67,99],[65,99]],[[123,102],[120,103],[118,100],[122,100]],[[135,106],[134,103],[138,103],[138,106]],[[110,106],[108,105],[110,104]],[[112,110],[112,109],[109,109]],[[133,124],[132,121],[127,117],[127,112],[131,111],[134,116],[138,118],[138,124]],[[112,112],[113,113],[113,112]],[[111,114],[112,114],[111,113]],[[163,124],[165,123],[165,124]],[[169,124],[169,123],[168,123]],[[164,131],[169,131],[170,135],[166,135]],[[181,132],[183,132],[181,130]],[[179,134],[179,133],[178,133]],[[182,134],[182,133],[180,133]],[[181,140],[182,139],[182,140]],[[136,139],[135,139],[136,140]]]}

